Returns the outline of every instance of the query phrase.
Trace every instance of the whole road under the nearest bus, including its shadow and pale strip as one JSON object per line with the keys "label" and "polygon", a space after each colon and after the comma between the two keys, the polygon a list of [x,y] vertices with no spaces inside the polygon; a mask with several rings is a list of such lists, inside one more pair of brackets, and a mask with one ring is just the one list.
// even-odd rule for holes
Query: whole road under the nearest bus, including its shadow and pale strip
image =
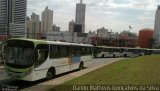
{"label": "whole road under the nearest bus, including its shadow and pale strip", "polygon": [[65,81],[79,77],[90,71],[98,69],[107,64],[113,63],[115,61],[119,61],[121,59],[124,59],[124,58],[96,58],[96,59],[93,59],[93,62],[90,65],[88,65],[84,70],[81,70],[81,71],[75,70],[75,71],[67,72],[67,73],[58,75],[54,79],[49,81],[46,79],[38,80],[35,82],[10,80],[6,78],[6,74],[4,70],[0,69],[0,91],[3,90],[2,89],[3,87],[4,88],[11,87],[15,89],[17,88],[18,90],[22,90],[22,91],[44,91],[48,88],[62,84]]}

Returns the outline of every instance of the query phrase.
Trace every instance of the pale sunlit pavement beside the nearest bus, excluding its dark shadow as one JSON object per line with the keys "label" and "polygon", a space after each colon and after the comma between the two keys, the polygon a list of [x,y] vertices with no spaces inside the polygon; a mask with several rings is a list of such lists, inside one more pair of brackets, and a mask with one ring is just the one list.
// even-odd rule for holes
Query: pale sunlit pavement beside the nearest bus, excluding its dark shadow
{"label": "pale sunlit pavement beside the nearest bus, excluding its dark shadow", "polygon": [[[66,81],[69,81],[73,78],[82,76],[88,72],[91,72],[93,70],[96,70],[100,67],[103,67],[105,65],[108,65],[110,63],[113,63],[115,61],[119,61],[123,58],[100,58],[100,59],[94,59],[93,63],[88,65],[86,69],[81,71],[72,72],[63,76],[60,76],[58,78],[55,78],[50,81],[45,81],[42,83],[37,84],[36,86],[32,86],[26,89],[22,89],[22,91],[46,91],[49,88],[52,88],[56,85],[62,84]],[[37,89],[38,88],[38,89]]]}

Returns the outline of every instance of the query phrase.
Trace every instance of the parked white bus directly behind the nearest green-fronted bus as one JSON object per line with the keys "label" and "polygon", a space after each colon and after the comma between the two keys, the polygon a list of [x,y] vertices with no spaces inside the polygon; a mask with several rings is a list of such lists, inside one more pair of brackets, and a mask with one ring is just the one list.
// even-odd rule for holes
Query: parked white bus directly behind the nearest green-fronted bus
{"label": "parked white bus directly behind the nearest green-fronted bus", "polygon": [[119,47],[105,47],[101,46],[98,47],[100,49],[100,52],[96,54],[96,57],[120,57],[120,51],[121,48]]}

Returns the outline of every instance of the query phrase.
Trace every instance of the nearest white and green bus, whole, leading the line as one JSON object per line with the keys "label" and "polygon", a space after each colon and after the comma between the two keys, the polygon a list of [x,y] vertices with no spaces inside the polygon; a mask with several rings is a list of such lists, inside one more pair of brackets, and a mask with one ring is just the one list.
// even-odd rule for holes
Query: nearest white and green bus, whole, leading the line
{"label": "nearest white and green bus, whole, leading the line", "polygon": [[5,71],[9,78],[36,81],[83,69],[92,62],[93,46],[33,39],[9,39]]}

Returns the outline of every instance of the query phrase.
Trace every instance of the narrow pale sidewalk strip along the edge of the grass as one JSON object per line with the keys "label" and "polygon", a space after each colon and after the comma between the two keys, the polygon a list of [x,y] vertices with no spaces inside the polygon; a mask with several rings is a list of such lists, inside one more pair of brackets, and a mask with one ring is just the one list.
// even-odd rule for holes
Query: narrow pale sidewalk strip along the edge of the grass
{"label": "narrow pale sidewalk strip along the edge of the grass", "polygon": [[[109,65],[113,62],[116,62],[116,61],[119,61],[120,59],[117,59],[117,60],[113,60],[113,61],[110,61],[106,64],[99,64],[97,66],[93,66],[93,67],[90,67],[90,68],[86,68],[84,70],[81,70],[81,71],[77,71],[77,72],[74,72],[74,73],[70,73],[68,75],[64,75],[62,77],[58,77],[56,79],[53,79],[53,80],[50,80],[50,81],[47,81],[47,82],[43,82],[43,83],[40,83],[36,86],[33,86],[33,87],[29,87],[29,88],[26,88],[26,89],[22,89],[21,91],[46,91],[48,89],[51,89],[53,88],[54,86],[57,86],[57,85],[60,85],[66,81],[69,81],[69,80],[72,80],[74,78],[77,78],[79,76],[82,76],[84,74],[87,74],[91,71],[94,71],[98,68],[101,68],[103,66],[106,66],[106,65]],[[38,89],[37,89],[38,88]]]}

